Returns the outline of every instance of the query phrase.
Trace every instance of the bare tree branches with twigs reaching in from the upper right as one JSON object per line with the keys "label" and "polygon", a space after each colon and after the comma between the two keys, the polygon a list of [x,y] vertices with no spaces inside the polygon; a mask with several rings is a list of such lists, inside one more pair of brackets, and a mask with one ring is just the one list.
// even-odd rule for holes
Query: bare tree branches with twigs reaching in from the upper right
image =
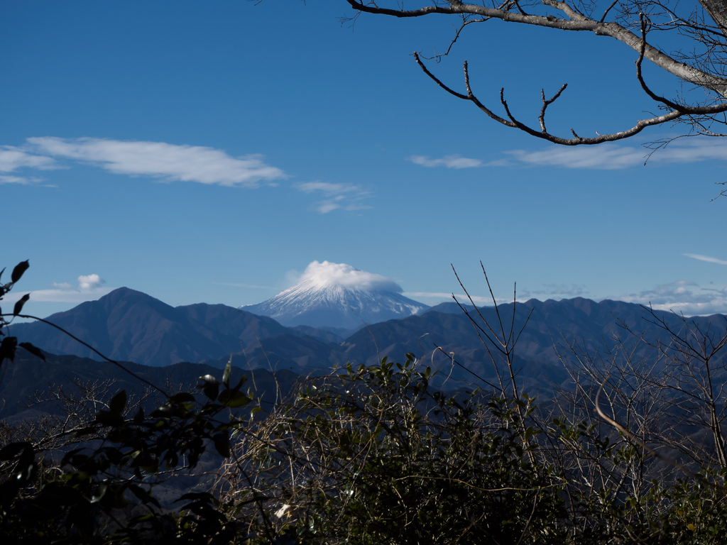
{"label": "bare tree branches with twigs reaching in from the upper right", "polygon": [[[550,100],[545,99],[545,91],[541,90],[543,106],[538,119],[538,130],[523,123],[513,114],[505,100],[504,89],[500,92],[500,103],[505,109],[505,117],[499,116],[483,105],[483,102],[478,100],[478,97],[470,88],[467,62],[465,62],[465,88],[467,94],[463,94],[443,84],[439,78],[434,76],[422,62],[422,58],[426,57],[420,57],[417,53],[414,54],[414,60],[416,60],[419,67],[449,94],[473,102],[483,113],[499,124],[519,129],[531,136],[554,144],[572,146],[614,142],[633,137],[649,126],[674,123],[687,124],[690,127],[689,134],[694,132],[694,134],[716,136],[722,133],[712,131],[710,126],[713,123],[727,124],[727,118],[724,116],[724,113],[727,112],[727,4],[724,0],[699,0],[704,12],[702,10],[699,10],[699,12],[693,10],[683,16],[677,14],[677,4],[673,8],[668,5],[669,0],[614,0],[605,9],[600,20],[590,17],[593,9],[595,9],[595,3],[581,5],[577,3],[578,0],[574,0],[572,3],[559,0],[529,0],[524,2],[509,0],[502,4],[494,4],[493,7],[487,7],[484,4],[465,4],[458,0],[447,0],[446,2],[435,2],[433,5],[422,6],[417,9],[403,9],[401,6],[396,9],[380,7],[378,3],[366,0],[346,1],[350,7],[356,9],[357,13],[401,18],[424,17],[433,14],[462,17],[462,24],[457,28],[456,35],[449,44],[446,53],[432,57],[437,61],[441,60],[444,55],[449,55],[451,47],[457,42],[460,33],[467,25],[491,19],[502,20],[505,23],[519,23],[562,31],[593,32],[596,36],[608,36],[616,39],[637,52],[636,77],[641,88],[651,100],[658,102],[659,108],[667,111],[661,115],[640,119],[630,128],[619,132],[610,134],[599,134],[597,132],[596,137],[580,137],[574,129],[571,129],[572,138],[550,134],[545,127],[545,110],[548,105],[561,97],[566,85],[563,85]],[[526,6],[529,8],[528,11],[540,7],[545,9],[545,13],[526,13]],[[553,15],[553,10],[561,16],[556,17]],[[683,9],[680,9],[680,11],[683,11]],[[611,16],[612,20],[606,20],[610,13],[616,15]],[[715,24],[705,23],[703,13],[706,13],[707,18],[711,18]],[[636,28],[640,30],[638,34],[632,32]],[[694,51],[689,53],[685,53],[681,49],[667,53],[646,41],[648,31],[677,31],[681,36],[693,39],[695,46],[699,46],[701,49],[697,52],[696,47],[694,47]],[[686,84],[701,87],[707,92],[707,98],[689,105],[683,100],[670,100],[657,95],[649,89],[643,79],[642,63],[644,59],[654,63],[654,65],[672,74],[672,76],[680,78]]]}

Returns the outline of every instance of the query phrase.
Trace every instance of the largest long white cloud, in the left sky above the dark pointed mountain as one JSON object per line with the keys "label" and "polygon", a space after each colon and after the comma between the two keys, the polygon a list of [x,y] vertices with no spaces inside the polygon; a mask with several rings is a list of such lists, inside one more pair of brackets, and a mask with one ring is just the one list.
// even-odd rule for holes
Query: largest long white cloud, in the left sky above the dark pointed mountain
{"label": "largest long white cloud, in the left sky above the dark pointed mountain", "polygon": [[[33,150],[100,166],[114,174],[148,176],[163,182],[199,182],[228,187],[258,187],[260,182],[286,178],[260,155],[230,157],[222,150],[166,142],[100,138],[28,138]],[[45,157],[49,161],[52,158]],[[38,167],[41,168],[41,167]]]}

